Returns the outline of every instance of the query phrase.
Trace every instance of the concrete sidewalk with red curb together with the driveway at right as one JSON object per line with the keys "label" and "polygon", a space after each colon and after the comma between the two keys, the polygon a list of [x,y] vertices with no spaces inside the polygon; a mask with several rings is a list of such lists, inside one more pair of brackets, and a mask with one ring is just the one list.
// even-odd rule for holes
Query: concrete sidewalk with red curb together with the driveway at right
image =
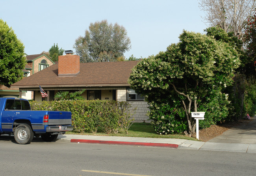
{"label": "concrete sidewalk with red curb together with the driveway at right", "polygon": [[[178,149],[235,151],[256,153],[256,118],[234,126],[208,142],[184,139],[132,138],[118,136],[59,135],[59,140],[74,143],[101,143],[134,146],[171,147]],[[199,136],[200,138],[200,136]]]}

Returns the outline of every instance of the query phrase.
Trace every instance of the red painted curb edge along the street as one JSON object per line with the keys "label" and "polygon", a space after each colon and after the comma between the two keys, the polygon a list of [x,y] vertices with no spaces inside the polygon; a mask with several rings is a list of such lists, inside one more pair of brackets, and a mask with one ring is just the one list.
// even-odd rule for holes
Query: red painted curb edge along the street
{"label": "red painted curb edge along the street", "polygon": [[178,148],[177,144],[171,144],[171,143],[121,142],[121,141],[100,141],[100,140],[85,140],[85,139],[71,139],[70,142],[141,145],[141,146],[152,146],[152,147],[170,147],[170,148],[176,148],[176,149]]}

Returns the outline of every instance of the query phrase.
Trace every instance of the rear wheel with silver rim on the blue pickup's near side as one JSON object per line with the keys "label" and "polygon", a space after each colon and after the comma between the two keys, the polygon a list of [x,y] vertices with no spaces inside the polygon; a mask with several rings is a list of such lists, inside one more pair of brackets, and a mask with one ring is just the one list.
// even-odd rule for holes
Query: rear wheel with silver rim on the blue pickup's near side
{"label": "rear wheel with silver rim on the blue pickup's near side", "polygon": [[20,124],[14,131],[14,139],[19,144],[29,144],[34,137],[34,132],[30,125]]}

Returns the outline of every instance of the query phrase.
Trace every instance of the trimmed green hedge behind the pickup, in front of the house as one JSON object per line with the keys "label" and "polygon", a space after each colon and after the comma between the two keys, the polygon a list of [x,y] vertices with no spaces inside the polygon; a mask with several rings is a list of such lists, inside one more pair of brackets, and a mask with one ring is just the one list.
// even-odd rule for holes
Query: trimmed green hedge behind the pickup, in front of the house
{"label": "trimmed green hedge behind the pickup, in front of the house", "polygon": [[107,134],[119,131],[128,133],[134,122],[135,109],[130,102],[105,100],[31,101],[32,110],[70,111],[76,132],[97,132],[100,127]]}

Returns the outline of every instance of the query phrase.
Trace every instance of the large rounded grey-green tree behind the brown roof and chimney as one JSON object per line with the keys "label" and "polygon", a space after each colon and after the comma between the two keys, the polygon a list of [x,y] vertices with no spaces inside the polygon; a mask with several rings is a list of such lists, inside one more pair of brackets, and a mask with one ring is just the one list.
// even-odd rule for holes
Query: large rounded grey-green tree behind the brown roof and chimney
{"label": "large rounded grey-green tree behind the brown roof and chimney", "polygon": [[126,29],[107,20],[91,23],[85,36],[79,36],[74,44],[81,62],[117,61],[130,50],[130,38]]}

